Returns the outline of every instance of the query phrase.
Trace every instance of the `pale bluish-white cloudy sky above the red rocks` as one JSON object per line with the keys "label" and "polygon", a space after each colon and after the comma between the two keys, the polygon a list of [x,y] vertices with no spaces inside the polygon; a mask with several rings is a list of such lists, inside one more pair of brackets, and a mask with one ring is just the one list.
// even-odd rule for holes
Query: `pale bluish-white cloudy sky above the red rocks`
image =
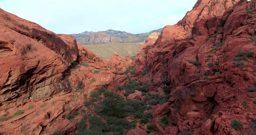
{"label": "pale bluish-white cloudy sky above the red rocks", "polygon": [[174,25],[196,1],[1,0],[0,8],[55,33],[114,29],[137,34]]}

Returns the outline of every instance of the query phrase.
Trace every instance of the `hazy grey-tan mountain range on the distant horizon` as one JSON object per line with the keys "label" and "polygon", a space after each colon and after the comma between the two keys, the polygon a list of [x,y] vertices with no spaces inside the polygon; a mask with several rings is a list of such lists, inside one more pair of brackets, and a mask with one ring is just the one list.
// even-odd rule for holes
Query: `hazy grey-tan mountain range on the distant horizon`
{"label": "hazy grey-tan mountain range on the distant horizon", "polygon": [[117,30],[108,29],[100,32],[82,32],[79,34],[70,34],[76,38],[81,45],[96,45],[110,42],[143,42],[153,32],[161,33],[163,28],[152,30],[148,33],[131,34]]}

